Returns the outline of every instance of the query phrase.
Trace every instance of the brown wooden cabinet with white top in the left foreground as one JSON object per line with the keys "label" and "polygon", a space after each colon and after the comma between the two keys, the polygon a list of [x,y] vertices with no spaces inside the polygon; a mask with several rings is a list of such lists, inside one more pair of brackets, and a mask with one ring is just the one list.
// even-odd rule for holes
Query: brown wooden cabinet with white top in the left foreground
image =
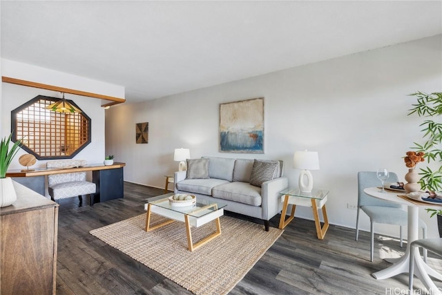
{"label": "brown wooden cabinet with white top in the left foreground", "polygon": [[55,294],[58,204],[14,182],[0,209],[0,294]]}

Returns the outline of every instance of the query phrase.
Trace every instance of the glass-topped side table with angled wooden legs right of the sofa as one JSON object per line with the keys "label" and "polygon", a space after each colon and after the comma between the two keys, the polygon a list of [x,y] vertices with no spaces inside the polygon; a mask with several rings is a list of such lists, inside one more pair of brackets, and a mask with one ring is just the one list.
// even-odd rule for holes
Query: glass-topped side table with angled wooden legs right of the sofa
{"label": "glass-topped side table with angled wooden legs right of the sofa", "polygon": [[[296,205],[311,207],[313,210],[313,216],[316,225],[316,234],[318,239],[323,240],[327,229],[329,229],[329,220],[327,218],[327,211],[325,209],[325,202],[327,202],[327,195],[329,191],[325,189],[313,189],[311,193],[302,193],[300,189],[285,189],[279,194],[281,196],[281,202],[284,202],[282,206],[281,219],[279,221],[279,229],[284,229],[293,220],[295,216]],[[287,207],[291,204],[291,213],[287,220],[285,214],[287,213]],[[323,210],[324,225],[320,226],[320,220],[318,215],[318,209]]]}

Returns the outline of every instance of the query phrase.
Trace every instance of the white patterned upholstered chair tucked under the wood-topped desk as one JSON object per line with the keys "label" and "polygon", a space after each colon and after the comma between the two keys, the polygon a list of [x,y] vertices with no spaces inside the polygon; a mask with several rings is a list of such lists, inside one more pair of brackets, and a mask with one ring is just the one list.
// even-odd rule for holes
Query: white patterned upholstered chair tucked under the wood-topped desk
{"label": "white patterned upholstered chair tucked under the wood-topped desk", "polygon": [[[47,168],[66,168],[85,166],[86,160],[55,160],[46,163]],[[84,195],[90,195],[90,206],[94,204],[95,183],[86,181],[86,172],[59,173],[48,175],[48,192],[52,200],[78,196],[82,202]]]}

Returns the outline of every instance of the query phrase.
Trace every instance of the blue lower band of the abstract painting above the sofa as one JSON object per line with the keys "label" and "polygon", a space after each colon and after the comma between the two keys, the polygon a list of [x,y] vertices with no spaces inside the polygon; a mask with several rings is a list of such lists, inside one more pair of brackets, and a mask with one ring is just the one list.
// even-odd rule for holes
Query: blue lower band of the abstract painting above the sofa
{"label": "blue lower band of the abstract painting above the sofa", "polygon": [[221,131],[220,151],[264,153],[262,131]]}

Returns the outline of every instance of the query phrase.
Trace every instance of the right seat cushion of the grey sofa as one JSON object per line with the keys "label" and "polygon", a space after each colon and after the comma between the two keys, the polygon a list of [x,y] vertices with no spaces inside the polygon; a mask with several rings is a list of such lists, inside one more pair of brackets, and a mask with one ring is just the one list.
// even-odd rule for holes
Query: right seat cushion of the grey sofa
{"label": "right seat cushion of the grey sofa", "polygon": [[261,188],[247,182],[229,182],[212,189],[212,196],[223,200],[231,200],[252,206],[261,206]]}

